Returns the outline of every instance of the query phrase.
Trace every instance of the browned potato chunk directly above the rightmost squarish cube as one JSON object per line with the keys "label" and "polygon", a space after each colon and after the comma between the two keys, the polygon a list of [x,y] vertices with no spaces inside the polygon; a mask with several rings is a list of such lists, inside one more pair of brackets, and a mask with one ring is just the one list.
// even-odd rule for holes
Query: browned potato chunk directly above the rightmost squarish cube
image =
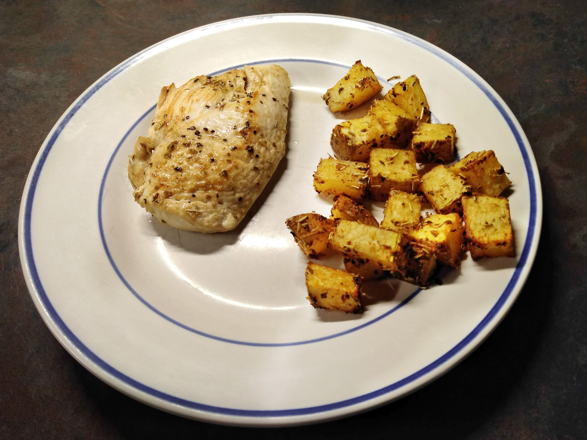
{"label": "browned potato chunk directly above the rightmost squarish cube", "polygon": [[474,192],[494,197],[512,183],[491,150],[469,153],[448,169],[464,178]]}

